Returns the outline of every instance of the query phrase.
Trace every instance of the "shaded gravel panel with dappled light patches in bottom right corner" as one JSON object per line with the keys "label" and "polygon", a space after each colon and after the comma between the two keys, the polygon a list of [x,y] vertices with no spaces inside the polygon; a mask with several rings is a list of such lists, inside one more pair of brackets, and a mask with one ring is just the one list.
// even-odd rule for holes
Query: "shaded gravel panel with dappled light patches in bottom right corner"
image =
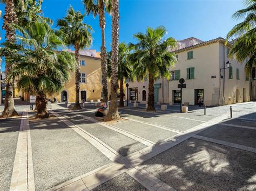
{"label": "shaded gravel panel with dappled light patches in bottom right corner", "polygon": [[142,164],[174,189],[256,189],[256,154],[190,138]]}

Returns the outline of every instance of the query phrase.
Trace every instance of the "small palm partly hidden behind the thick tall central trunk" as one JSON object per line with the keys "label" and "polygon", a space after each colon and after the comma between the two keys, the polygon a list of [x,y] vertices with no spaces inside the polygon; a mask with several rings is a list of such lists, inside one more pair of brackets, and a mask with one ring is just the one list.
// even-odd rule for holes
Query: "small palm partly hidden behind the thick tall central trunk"
{"label": "small palm partly hidden behind the thick tall central trunk", "polygon": [[[129,62],[128,56],[130,49],[125,43],[120,43],[118,47],[118,80],[119,80],[119,91],[120,99],[118,107],[124,107],[124,79],[134,79],[132,65]],[[107,59],[107,72],[111,77],[111,52]]]}

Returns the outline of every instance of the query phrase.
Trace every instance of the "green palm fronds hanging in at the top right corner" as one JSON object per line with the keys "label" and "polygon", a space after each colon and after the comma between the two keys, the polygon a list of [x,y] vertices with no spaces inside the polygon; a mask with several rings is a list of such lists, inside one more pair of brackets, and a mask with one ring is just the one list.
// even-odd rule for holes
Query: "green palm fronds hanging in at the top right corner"
{"label": "green palm fronds hanging in at the top right corner", "polygon": [[229,56],[232,57],[233,55],[239,62],[243,62],[249,58],[245,64],[245,72],[246,74],[250,74],[252,67],[255,66],[256,63],[256,1],[246,0],[245,5],[247,8],[235,12],[232,16],[234,19],[245,17],[245,20],[235,25],[233,29],[228,32],[226,44],[229,39],[238,37],[234,40]]}

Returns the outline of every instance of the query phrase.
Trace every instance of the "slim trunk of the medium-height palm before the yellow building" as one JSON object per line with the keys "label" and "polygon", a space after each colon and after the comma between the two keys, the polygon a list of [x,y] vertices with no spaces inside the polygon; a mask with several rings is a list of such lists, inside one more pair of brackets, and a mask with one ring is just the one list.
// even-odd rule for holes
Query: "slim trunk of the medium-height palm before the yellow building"
{"label": "slim trunk of the medium-height palm before the yellow building", "polygon": [[81,105],[79,103],[79,91],[80,91],[80,65],[79,65],[79,46],[76,43],[75,44],[75,58],[77,60],[77,66],[76,66],[76,101],[75,105],[72,108],[73,110],[76,109],[82,109]]}

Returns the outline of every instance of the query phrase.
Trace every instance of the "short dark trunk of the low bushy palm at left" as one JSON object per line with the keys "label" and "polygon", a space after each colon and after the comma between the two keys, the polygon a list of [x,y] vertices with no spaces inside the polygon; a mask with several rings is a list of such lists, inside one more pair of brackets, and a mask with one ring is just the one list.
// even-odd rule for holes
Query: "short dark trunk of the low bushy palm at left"
{"label": "short dark trunk of the low bushy palm at left", "polygon": [[36,118],[48,118],[47,100],[44,95],[38,94],[36,96],[37,115]]}

